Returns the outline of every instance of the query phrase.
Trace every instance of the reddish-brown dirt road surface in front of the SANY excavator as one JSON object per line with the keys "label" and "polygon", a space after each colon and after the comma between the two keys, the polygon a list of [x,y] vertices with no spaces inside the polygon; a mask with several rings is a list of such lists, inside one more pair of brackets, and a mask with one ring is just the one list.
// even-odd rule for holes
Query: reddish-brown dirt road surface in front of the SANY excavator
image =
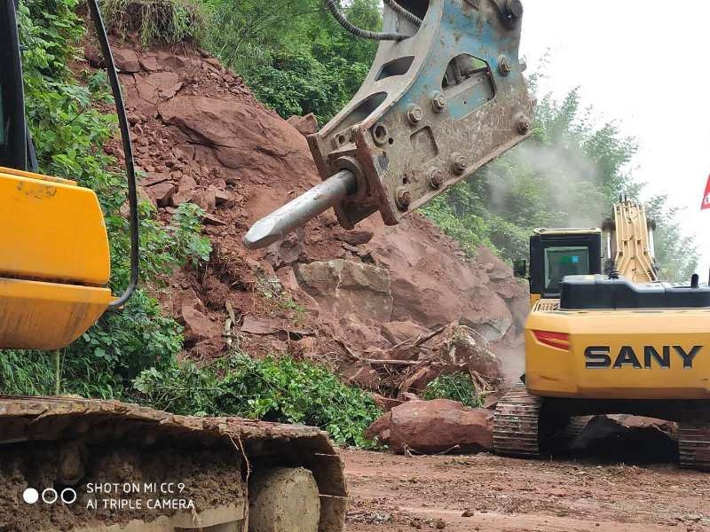
{"label": "reddish-brown dirt road surface in front of the SANY excavator", "polygon": [[343,451],[347,532],[710,531],[710,473]]}

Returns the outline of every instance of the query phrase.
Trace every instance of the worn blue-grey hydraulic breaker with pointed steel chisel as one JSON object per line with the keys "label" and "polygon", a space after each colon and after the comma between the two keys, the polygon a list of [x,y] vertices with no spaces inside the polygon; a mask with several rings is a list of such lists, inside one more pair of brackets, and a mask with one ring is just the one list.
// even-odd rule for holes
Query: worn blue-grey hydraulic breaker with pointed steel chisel
{"label": "worn blue-grey hydraulic breaker with pointed steel chisel", "polygon": [[245,244],[278,241],[335,207],[343,227],[379,211],[394,225],[528,137],[533,100],[518,59],[519,0],[385,3],[382,41],[348,106],[308,137],[324,183],[257,222]]}

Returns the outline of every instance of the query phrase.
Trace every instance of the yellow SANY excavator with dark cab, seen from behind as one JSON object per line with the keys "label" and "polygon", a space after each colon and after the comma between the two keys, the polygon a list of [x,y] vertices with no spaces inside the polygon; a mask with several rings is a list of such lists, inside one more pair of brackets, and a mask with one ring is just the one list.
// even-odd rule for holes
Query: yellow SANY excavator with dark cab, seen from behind
{"label": "yellow SANY excavator with dark cab, seen from behind", "polygon": [[710,288],[659,281],[654,229],[622,198],[601,230],[535,231],[525,385],[498,403],[496,452],[536,457],[575,417],[637,414],[677,421],[680,464],[710,469]]}

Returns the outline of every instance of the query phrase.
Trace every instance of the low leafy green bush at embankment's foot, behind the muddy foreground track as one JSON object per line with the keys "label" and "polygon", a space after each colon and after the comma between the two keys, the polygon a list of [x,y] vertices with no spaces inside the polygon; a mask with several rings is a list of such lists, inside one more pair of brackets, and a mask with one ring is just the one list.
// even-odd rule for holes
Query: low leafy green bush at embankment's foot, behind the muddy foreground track
{"label": "low leafy green bush at embankment's foot, behind the muddy foreground track", "polygon": [[367,393],[324,366],[289,356],[254,360],[237,353],[198,368],[184,362],[135,380],[141,399],[179,414],[235,415],[319,426],[341,444],[370,447],[363,436],[382,412]]}

